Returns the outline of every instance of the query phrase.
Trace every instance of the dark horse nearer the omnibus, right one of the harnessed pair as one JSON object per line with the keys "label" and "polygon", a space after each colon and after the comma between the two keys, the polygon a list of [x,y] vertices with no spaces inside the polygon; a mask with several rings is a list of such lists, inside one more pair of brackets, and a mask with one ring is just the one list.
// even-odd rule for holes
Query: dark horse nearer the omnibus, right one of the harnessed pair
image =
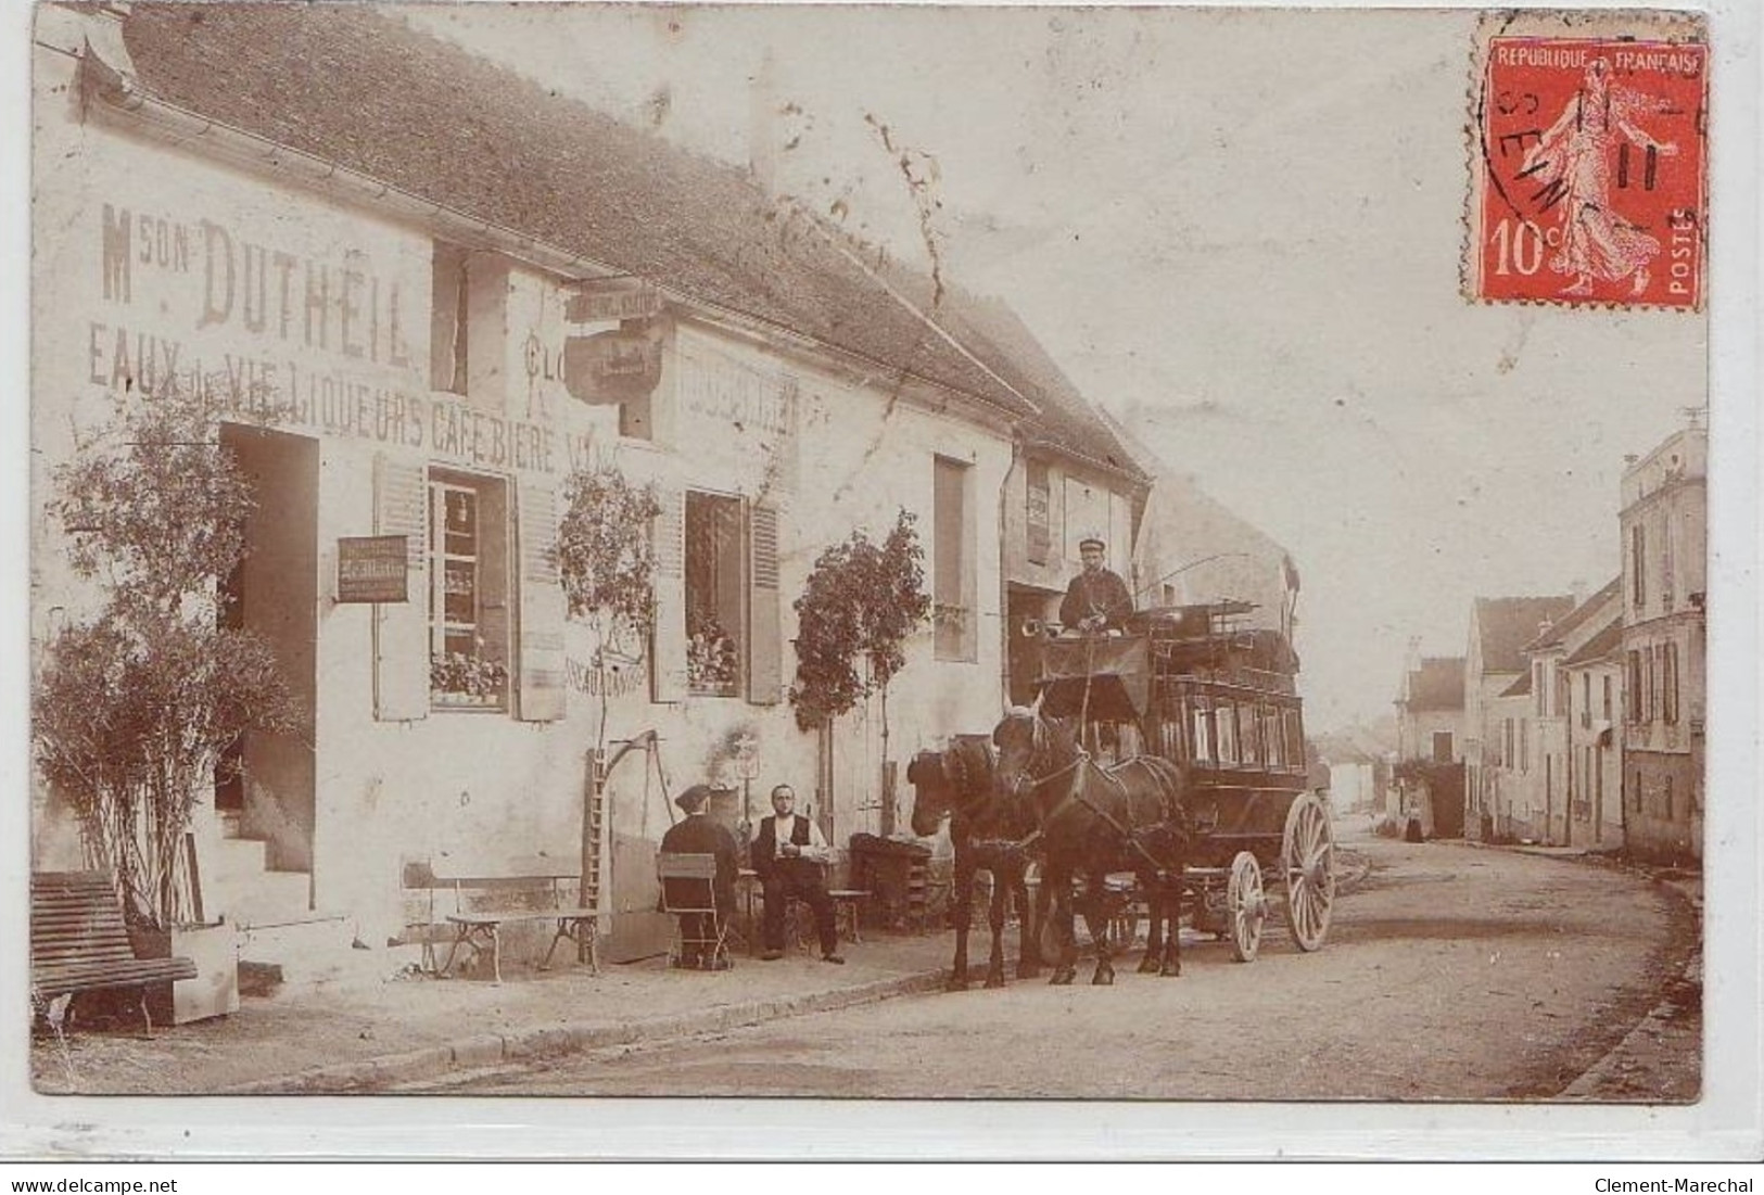
{"label": "dark horse nearer the omnibus, right one of the harnessed pair", "polygon": [[1170,760],[1138,756],[1102,768],[1078,742],[1078,719],[1046,719],[1039,709],[1014,709],[993,731],[998,791],[1016,797],[1041,830],[1041,885],[1053,892],[1060,959],[1053,983],[1078,973],[1073,934],[1073,880],[1085,880],[1083,913],[1097,948],[1092,983],[1113,983],[1104,878],[1131,871],[1145,895],[1145,959],[1140,971],[1182,975],[1182,872],[1189,825],[1187,777]]}

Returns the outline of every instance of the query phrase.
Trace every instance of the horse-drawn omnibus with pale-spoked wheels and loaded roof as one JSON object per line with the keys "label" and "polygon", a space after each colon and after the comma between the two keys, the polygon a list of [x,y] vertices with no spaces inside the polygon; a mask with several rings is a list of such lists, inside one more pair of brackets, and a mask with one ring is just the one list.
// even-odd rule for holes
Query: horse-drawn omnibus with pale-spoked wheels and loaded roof
{"label": "horse-drawn omnibus with pale-spoked wheels and loaded roof", "polygon": [[1279,631],[1247,626],[1252,610],[1171,606],[1132,615],[1125,635],[1046,638],[1037,679],[1043,714],[1080,719],[1097,761],[1150,754],[1184,768],[1184,902],[1244,962],[1270,894],[1284,895],[1300,950],[1323,945],[1335,901],[1328,807],[1305,788],[1298,657]]}

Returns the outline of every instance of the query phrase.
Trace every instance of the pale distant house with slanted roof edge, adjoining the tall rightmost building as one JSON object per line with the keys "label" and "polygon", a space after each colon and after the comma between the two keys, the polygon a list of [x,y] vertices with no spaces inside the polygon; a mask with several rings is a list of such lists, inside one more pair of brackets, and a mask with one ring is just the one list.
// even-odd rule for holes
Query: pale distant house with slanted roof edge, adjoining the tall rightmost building
{"label": "pale distant house with slanted roof edge, adjoining the tall rightmost building", "polygon": [[[1577,818],[1582,823],[1579,844],[1593,844],[1584,835],[1595,820],[1591,798],[1602,777],[1598,756],[1602,747],[1588,742],[1588,737],[1593,731],[1595,707],[1603,700],[1603,693],[1595,696],[1591,673],[1581,670],[1577,677],[1570,675],[1566,661],[1618,617],[1619,583],[1621,578],[1612,578],[1524,647],[1531,673],[1529,737],[1536,744],[1542,772],[1526,790],[1529,805],[1522,820],[1538,841],[1552,846],[1575,842]],[[1579,693],[1575,679],[1581,684]],[[1609,744],[1603,749],[1609,751]]]}

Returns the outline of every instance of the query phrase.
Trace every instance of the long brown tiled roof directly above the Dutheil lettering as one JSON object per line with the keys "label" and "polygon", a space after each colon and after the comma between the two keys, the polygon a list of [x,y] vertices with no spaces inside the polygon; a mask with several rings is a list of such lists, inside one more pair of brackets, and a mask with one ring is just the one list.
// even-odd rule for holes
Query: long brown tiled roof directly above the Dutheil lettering
{"label": "long brown tiled roof directly above the Dutheil lettering", "polygon": [[[148,95],[690,300],[1034,414],[993,375],[1005,372],[993,345],[965,345],[988,372],[871,277],[873,250],[861,266],[854,241],[773,203],[746,173],[370,5],[136,4],[123,39]],[[921,282],[914,289],[930,294]]]}

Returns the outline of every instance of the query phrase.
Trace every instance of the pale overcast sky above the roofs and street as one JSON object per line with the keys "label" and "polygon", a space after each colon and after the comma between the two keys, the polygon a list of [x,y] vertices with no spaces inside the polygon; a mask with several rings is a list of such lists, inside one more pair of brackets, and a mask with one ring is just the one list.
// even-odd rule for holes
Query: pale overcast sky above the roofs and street
{"label": "pale overcast sky above the roofs and street", "polygon": [[1298,560],[1314,730],[1388,712],[1409,636],[1461,654],[1475,596],[1616,575],[1623,455],[1706,402],[1700,315],[1461,298],[1473,19],[413,16],[693,150],[748,162],[762,129],[780,192],[923,257],[886,127],[944,268]]}

